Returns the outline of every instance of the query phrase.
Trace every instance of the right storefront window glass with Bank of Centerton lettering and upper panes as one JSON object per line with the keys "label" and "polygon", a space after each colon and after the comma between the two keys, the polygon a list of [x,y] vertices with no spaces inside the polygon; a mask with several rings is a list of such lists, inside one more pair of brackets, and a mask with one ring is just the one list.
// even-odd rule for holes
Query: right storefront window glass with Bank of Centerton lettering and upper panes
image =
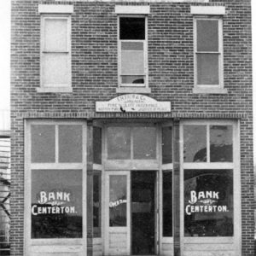
{"label": "right storefront window glass with Bank of Centerton lettering and upper panes", "polygon": [[234,235],[234,127],[183,125],[184,236]]}

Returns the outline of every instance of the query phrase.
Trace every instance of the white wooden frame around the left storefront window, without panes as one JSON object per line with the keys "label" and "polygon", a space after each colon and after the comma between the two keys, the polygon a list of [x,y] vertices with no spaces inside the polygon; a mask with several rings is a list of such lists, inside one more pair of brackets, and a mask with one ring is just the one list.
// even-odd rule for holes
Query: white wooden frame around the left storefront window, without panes
{"label": "white wooden frame around the left storefront window, without panes", "polygon": [[[31,126],[32,125],[55,125],[55,163],[32,163],[31,155]],[[82,125],[83,127],[83,159],[81,163],[58,163],[58,125]],[[69,121],[69,120],[39,120],[39,119],[28,119],[25,120],[24,124],[25,131],[25,190],[24,190],[24,248],[25,254],[28,256],[34,255],[33,253],[73,253],[74,247],[77,252],[86,253],[87,248],[87,211],[86,211],[86,122],[85,121]],[[60,170],[60,169],[71,169],[71,170],[82,170],[82,207],[83,207],[83,237],[81,238],[32,238],[32,218],[31,218],[31,204],[32,204],[32,170]],[[62,245],[62,246],[61,246]],[[65,245],[65,246],[63,246]]]}

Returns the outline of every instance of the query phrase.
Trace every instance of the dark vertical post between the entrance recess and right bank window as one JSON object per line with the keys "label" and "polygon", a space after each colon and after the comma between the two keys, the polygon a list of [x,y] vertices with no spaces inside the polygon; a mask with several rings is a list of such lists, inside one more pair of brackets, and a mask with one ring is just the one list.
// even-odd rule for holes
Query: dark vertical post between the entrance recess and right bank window
{"label": "dark vertical post between the entrance recess and right bank window", "polygon": [[179,119],[173,120],[173,249],[174,256],[180,256],[180,160]]}

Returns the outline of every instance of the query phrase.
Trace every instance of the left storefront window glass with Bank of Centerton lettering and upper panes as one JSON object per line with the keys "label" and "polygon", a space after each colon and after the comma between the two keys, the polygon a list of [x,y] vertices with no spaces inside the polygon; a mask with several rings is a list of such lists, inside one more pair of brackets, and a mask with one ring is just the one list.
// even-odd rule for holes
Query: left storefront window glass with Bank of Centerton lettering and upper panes
{"label": "left storefront window glass with Bank of Centerton lettering and upper panes", "polygon": [[30,131],[31,237],[82,237],[83,125],[35,122]]}

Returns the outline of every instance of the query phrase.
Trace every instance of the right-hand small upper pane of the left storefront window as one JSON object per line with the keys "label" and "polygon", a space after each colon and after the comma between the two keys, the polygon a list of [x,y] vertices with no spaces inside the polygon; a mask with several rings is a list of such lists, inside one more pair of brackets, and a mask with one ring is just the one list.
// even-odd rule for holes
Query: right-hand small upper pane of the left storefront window
{"label": "right-hand small upper pane of the left storefront window", "polygon": [[82,162],[82,125],[59,125],[59,161]]}

